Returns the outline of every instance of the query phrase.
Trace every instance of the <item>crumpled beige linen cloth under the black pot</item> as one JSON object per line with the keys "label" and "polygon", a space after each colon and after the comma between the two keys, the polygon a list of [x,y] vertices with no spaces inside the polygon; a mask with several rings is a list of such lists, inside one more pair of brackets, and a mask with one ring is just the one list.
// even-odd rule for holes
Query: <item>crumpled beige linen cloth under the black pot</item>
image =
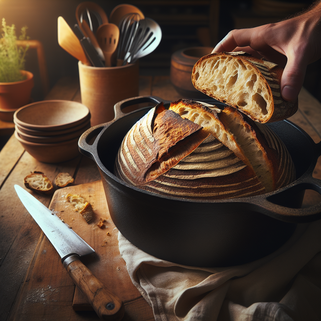
{"label": "crumpled beige linen cloth under the black pot", "polygon": [[156,321],[317,321],[320,231],[321,220],[299,224],[291,239],[269,256],[225,268],[160,260],[120,232],[118,241],[132,282],[152,306]]}

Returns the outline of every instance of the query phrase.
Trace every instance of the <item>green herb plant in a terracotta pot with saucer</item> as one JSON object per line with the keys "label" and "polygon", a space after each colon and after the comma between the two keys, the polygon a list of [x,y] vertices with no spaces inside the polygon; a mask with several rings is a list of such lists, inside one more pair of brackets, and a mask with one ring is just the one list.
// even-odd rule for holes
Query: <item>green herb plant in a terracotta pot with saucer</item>
{"label": "green herb plant in a terracotta pot with saucer", "polygon": [[[21,28],[20,40],[26,37],[27,27]],[[33,74],[24,70],[25,55],[28,50],[17,46],[15,26],[7,26],[2,19],[0,38],[0,119],[13,121],[16,109],[30,103],[33,88]]]}

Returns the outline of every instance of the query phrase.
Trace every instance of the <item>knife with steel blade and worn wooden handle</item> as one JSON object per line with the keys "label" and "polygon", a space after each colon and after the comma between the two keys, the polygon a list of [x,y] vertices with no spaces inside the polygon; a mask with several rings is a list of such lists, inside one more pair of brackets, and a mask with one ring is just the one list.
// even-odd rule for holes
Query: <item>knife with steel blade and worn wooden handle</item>
{"label": "knife with steel blade and worn wooden handle", "polygon": [[122,301],[80,261],[80,256],[95,251],[35,197],[19,185],[14,185],[14,188],[22,204],[55,247],[65,269],[100,319],[121,320],[124,316]]}

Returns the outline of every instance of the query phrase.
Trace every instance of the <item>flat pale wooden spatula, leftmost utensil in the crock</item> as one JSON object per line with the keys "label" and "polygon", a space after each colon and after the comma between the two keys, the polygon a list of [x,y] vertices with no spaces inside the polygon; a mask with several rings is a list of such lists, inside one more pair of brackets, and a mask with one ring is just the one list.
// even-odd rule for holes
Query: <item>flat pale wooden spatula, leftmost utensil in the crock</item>
{"label": "flat pale wooden spatula, leftmost utensil in the crock", "polygon": [[70,55],[80,60],[84,65],[91,66],[82,45],[73,30],[63,17],[58,17],[58,43],[59,46],[65,49]]}

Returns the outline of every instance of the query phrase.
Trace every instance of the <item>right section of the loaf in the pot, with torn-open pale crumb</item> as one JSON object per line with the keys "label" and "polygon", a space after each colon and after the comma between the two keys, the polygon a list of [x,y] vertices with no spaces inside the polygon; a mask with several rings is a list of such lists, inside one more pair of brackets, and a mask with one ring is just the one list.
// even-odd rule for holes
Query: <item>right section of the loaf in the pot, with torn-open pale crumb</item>
{"label": "right section of the loaf in the pot, with torn-open pale crumb", "polygon": [[[184,115],[187,119],[202,125],[213,136],[229,147],[233,152],[239,150],[246,157],[246,164],[250,164],[256,176],[265,187],[266,192],[284,187],[295,180],[295,168],[291,156],[278,136],[268,126],[258,124],[249,119],[237,109],[225,107],[217,111],[215,106],[197,103],[189,100],[178,100],[170,104],[169,109]],[[217,120],[212,118],[207,123],[204,117],[211,116],[210,111],[215,109],[216,115],[224,127],[218,129]],[[225,137],[218,131],[228,128],[229,134]],[[230,142],[234,143],[231,144]],[[197,150],[196,150],[197,151]],[[185,159],[183,160],[185,161]],[[281,170],[282,168],[282,170]]]}

